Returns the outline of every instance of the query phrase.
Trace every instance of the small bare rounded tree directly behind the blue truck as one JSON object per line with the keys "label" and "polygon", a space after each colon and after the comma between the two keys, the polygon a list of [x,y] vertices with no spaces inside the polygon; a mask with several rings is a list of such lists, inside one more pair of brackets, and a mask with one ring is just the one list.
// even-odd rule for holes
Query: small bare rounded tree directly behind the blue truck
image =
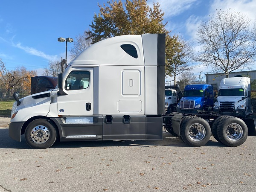
{"label": "small bare rounded tree directly behind the blue truck", "polygon": [[186,71],[185,73],[181,73],[178,77],[177,84],[180,85],[180,89],[184,90],[185,86],[188,84],[199,84],[197,81],[197,76],[194,73]]}

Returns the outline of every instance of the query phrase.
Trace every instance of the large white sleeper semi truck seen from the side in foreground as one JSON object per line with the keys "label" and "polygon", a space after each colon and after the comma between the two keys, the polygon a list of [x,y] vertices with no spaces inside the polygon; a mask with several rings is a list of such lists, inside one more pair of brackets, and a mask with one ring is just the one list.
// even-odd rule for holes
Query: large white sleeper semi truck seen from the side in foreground
{"label": "large white sleeper semi truck seen from the side in foreground", "polygon": [[[56,89],[22,99],[14,94],[9,136],[21,141],[25,134],[32,148],[49,148],[56,140],[163,140],[164,122],[190,146],[205,145],[211,129],[228,146],[247,139],[248,126],[237,117],[166,115],[164,94],[165,34],[105,39],[58,75]],[[249,130],[256,135],[255,127]]]}

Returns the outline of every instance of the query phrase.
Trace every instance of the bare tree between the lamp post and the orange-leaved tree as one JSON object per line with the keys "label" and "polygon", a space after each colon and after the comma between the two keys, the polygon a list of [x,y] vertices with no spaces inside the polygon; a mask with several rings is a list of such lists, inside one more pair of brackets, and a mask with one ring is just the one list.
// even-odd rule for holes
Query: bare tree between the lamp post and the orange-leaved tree
{"label": "bare tree between the lamp post and the orange-leaved tree", "polygon": [[77,35],[76,41],[73,43],[73,47],[70,49],[70,59],[71,61],[79,55],[84,49],[89,47],[92,43],[90,36],[88,35],[88,30],[84,31],[83,35]]}

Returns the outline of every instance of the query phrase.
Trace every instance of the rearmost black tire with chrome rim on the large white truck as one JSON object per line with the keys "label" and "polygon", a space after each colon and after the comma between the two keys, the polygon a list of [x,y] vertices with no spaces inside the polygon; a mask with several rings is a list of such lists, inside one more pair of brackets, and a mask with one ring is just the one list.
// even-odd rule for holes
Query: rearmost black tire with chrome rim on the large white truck
{"label": "rearmost black tire with chrome rim on the large white truck", "polygon": [[217,135],[224,145],[237,147],[246,141],[248,128],[242,119],[233,116],[226,117],[219,122]]}

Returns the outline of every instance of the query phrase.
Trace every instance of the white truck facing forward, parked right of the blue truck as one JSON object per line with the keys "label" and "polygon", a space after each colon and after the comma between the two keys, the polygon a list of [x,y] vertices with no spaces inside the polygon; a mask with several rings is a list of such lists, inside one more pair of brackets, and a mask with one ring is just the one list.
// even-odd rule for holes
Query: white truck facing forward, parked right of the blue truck
{"label": "white truck facing forward, parked right of the blue truck", "polygon": [[246,118],[253,114],[250,78],[230,77],[221,80],[213,110],[222,115]]}

